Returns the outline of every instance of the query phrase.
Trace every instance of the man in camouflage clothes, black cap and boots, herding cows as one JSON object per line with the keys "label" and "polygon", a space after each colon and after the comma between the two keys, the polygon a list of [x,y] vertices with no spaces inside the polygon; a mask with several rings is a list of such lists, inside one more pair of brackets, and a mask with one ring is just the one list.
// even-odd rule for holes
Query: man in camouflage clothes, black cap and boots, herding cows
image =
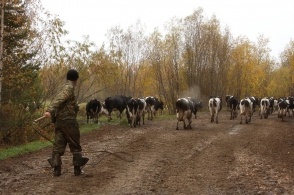
{"label": "man in camouflage clothes, black cap and boots, herding cows", "polygon": [[81,166],[89,160],[82,157],[79,124],[76,120],[78,105],[74,91],[78,78],[79,73],[76,70],[71,69],[67,72],[67,83],[44,113],[44,116],[51,117],[55,123],[52,158],[48,159],[51,167],[54,168],[54,176],[61,175],[61,156],[64,155],[67,144],[73,154],[75,176],[82,174]]}

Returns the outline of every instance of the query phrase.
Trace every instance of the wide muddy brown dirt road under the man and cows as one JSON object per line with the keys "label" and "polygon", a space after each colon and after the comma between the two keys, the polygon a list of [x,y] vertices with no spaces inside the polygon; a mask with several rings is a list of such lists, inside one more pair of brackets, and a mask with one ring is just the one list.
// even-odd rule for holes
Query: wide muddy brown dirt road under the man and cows
{"label": "wide muddy brown dirt road under the man and cows", "polygon": [[239,119],[221,111],[215,124],[201,112],[191,130],[175,130],[175,119],[104,124],[82,134],[85,174],[73,175],[67,151],[53,177],[48,147],[0,161],[0,194],[294,194],[293,116]]}

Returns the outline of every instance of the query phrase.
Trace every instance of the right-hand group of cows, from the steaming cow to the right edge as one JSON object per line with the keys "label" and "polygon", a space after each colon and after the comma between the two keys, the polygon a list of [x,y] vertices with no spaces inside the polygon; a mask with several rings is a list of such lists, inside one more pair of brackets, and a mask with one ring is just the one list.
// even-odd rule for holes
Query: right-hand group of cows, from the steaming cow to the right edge
{"label": "right-hand group of cows, from the steaming cow to the right edge", "polygon": [[[257,106],[259,107],[259,116],[260,119],[268,118],[269,114],[272,114],[274,111],[278,111],[278,117],[284,118],[286,114],[289,114],[292,111],[294,116],[294,98],[293,97],[284,97],[275,99],[273,97],[265,97],[262,99],[258,99],[257,97],[246,97],[241,99],[240,101],[238,98],[227,95],[226,96],[226,105],[228,110],[230,111],[230,119],[233,120],[237,117],[237,112],[240,112],[240,124],[242,124],[242,118],[245,117],[245,123],[248,124],[251,121],[251,117],[253,113],[256,111]],[[218,123],[218,114],[222,109],[222,97],[213,97],[211,96],[208,101],[208,108],[210,111],[211,122]],[[192,114],[195,112],[195,103],[190,97],[187,98],[180,98],[176,102],[176,110],[177,110],[177,128],[178,123],[180,121],[184,124],[184,129],[192,128]],[[196,116],[196,113],[195,113]]]}

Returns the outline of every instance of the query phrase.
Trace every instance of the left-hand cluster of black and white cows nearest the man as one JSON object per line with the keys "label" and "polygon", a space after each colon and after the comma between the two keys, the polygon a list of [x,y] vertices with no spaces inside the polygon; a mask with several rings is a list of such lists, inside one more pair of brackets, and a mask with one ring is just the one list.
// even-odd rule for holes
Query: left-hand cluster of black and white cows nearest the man
{"label": "left-hand cluster of black and white cows nearest the man", "polygon": [[148,114],[148,120],[153,120],[155,111],[163,110],[163,102],[157,98],[149,96],[146,98],[132,98],[124,95],[107,97],[101,104],[97,99],[90,100],[86,105],[87,123],[93,119],[98,123],[98,117],[102,114],[108,116],[108,121],[112,120],[111,112],[119,111],[121,119],[122,112],[126,109],[127,119],[131,127],[144,125],[145,114]]}

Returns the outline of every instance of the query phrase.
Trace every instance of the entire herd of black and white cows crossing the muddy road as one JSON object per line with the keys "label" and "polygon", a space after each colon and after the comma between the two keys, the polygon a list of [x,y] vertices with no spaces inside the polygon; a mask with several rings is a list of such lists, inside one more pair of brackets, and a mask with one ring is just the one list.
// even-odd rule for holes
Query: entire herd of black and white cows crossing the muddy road
{"label": "entire herd of black and white cows crossing the muddy road", "polygon": [[[243,123],[243,117],[245,117],[245,123],[248,124],[251,121],[253,113],[256,108],[259,107],[260,119],[268,118],[274,111],[278,111],[278,117],[284,121],[286,114],[292,111],[294,115],[294,98],[285,97],[275,99],[273,97],[265,97],[258,99],[257,97],[246,97],[241,99],[227,95],[225,98],[226,106],[230,111],[230,120],[235,119],[240,113],[240,124]],[[211,122],[218,123],[218,115],[222,110],[222,97],[211,96],[208,101],[208,108],[210,111]],[[195,98],[186,97],[179,98],[176,103],[177,114],[177,127],[179,129],[179,122],[183,122],[184,129],[191,129],[192,116],[196,117],[198,109],[202,108],[202,101],[198,101]],[[148,120],[153,120],[155,111],[158,109],[163,110],[163,102],[159,101],[153,96],[145,98],[132,98],[124,95],[108,97],[103,103],[100,103],[97,99],[91,100],[87,103],[87,123],[89,119],[93,119],[95,123],[98,123],[98,117],[102,114],[108,116],[108,121],[112,120],[111,112],[119,111],[119,117],[121,118],[122,112],[126,110],[128,123],[131,127],[137,125],[144,125],[145,114],[148,114]]]}

